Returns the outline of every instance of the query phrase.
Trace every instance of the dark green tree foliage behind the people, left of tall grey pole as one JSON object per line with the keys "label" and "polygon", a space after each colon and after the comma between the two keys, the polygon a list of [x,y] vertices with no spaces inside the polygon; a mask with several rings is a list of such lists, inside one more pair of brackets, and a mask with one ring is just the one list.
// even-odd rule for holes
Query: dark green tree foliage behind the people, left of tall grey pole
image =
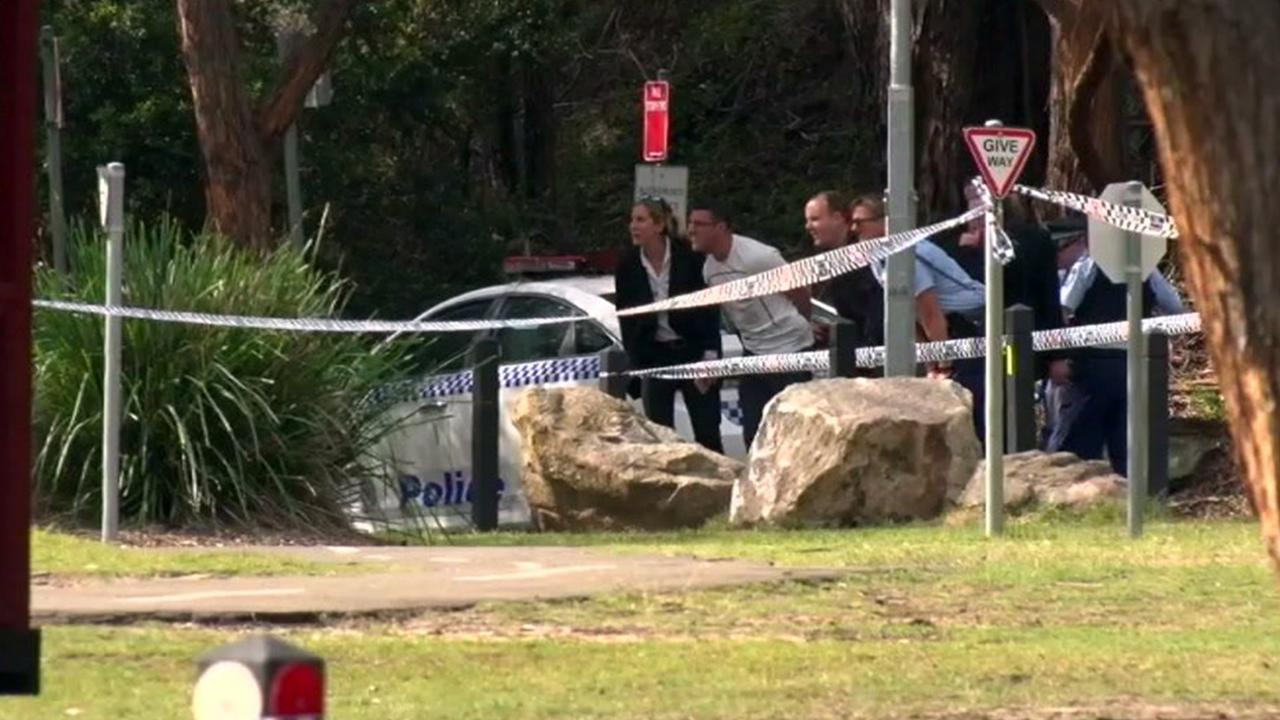
{"label": "dark green tree foliage behind the people, left of tall grey pole", "polygon": [[[278,68],[282,8],[234,4],[251,96]],[[808,246],[804,200],[882,186],[881,56],[831,0],[687,4],[380,0],[360,4],[333,56],[333,104],[305,109],[308,229],[329,206],[340,238],[320,261],[353,281],[356,315],[411,316],[500,281],[500,258],[626,242],[640,85],[675,83],[672,163],[746,233]],[[131,211],[204,220],[200,150],[174,3],[60,0],[68,208],[92,208],[97,164],[127,164]],[[278,149],[276,149],[278,150]],[[283,161],[276,227],[285,223]],[[44,183],[41,183],[44,184]]]}

